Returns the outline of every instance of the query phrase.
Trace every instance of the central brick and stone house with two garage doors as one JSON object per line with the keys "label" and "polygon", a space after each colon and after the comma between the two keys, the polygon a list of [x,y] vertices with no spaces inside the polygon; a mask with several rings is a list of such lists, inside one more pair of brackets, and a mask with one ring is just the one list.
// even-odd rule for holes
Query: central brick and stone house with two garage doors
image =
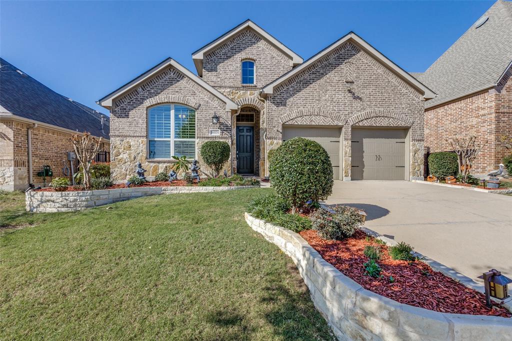
{"label": "central brick and stone house with two garage doors", "polygon": [[168,58],[98,100],[111,112],[112,175],[138,160],[150,176],[172,155],[201,162],[204,141],[232,148],[230,173],[268,176],[268,151],[321,143],[335,179],[423,179],[424,101],[435,93],[350,32],[304,61],[250,20],[192,54]]}

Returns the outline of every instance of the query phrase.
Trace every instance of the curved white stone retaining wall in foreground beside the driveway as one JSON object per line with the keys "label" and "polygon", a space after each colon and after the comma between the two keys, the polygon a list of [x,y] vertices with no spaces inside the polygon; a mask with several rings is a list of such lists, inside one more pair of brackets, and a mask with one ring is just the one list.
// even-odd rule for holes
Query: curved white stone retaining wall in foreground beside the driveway
{"label": "curved white stone retaining wall in foreground beside the driveway", "polygon": [[340,340],[512,340],[512,319],[447,314],[364,289],[326,262],[298,233],[245,214],[249,226],[293,260],[311,299]]}

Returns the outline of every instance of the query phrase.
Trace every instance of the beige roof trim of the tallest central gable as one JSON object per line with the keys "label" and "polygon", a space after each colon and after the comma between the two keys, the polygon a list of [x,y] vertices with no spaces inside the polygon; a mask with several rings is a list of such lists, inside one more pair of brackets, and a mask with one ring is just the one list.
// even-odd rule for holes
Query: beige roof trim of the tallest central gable
{"label": "beige roof trim of the tallest central gable", "polygon": [[239,33],[244,31],[245,29],[251,29],[256,32],[262,38],[267,40],[272,46],[281,51],[283,54],[287,55],[293,62],[293,66],[296,66],[303,62],[303,58],[287,48],[281,41],[273,37],[270,33],[262,29],[260,26],[256,25],[251,19],[245,20],[243,23],[235,26],[231,30],[227,31],[217,39],[210,41],[208,44],[200,48],[199,50],[192,53],[192,59],[194,60],[194,64],[196,66],[197,72],[199,76],[203,75],[203,58],[204,56],[224,44],[229,39],[237,36]]}

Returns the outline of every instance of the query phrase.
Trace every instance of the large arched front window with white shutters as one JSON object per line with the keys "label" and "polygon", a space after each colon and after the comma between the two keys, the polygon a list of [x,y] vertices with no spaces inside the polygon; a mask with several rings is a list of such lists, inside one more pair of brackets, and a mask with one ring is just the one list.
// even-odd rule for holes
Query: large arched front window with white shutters
{"label": "large arched front window with white shutters", "polygon": [[154,106],[147,111],[148,158],[196,158],[196,111],[181,104]]}

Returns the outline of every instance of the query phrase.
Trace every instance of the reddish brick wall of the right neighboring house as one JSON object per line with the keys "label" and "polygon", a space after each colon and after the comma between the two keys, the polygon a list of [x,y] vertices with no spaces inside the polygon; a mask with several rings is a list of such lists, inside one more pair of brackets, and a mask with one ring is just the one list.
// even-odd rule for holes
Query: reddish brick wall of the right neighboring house
{"label": "reddish brick wall of the right neighboring house", "polygon": [[470,137],[488,141],[475,160],[474,175],[486,175],[498,168],[503,156],[510,153],[500,141],[502,135],[512,135],[511,70],[500,86],[425,110],[425,146],[430,152],[450,151],[446,139]]}

